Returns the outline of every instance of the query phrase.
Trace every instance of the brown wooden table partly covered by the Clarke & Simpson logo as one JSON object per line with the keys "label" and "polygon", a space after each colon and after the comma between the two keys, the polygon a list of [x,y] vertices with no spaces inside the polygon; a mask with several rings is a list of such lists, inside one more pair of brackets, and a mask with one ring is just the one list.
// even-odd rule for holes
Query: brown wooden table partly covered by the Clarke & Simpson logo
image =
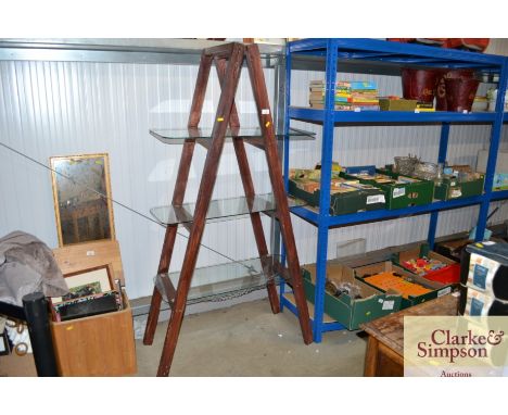
{"label": "brown wooden table partly covered by the Clarke & Simpson logo", "polygon": [[448,294],[361,325],[368,335],[364,376],[404,376],[404,316],[457,315]]}

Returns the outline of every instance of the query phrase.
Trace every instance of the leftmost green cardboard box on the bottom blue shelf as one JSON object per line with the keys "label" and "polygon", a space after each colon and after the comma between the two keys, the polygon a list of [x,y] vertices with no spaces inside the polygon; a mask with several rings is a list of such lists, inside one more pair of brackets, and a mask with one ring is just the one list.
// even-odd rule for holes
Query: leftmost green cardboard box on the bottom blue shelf
{"label": "leftmost green cardboard box on the bottom blue shelf", "polygon": [[[303,276],[305,295],[314,304],[316,265],[305,265]],[[335,297],[328,291],[325,292],[325,313],[348,330],[358,330],[360,324],[401,310],[401,295],[383,293],[355,279],[353,269],[345,265],[328,263],[327,278],[336,285],[341,282],[354,284],[360,291],[360,299],[353,299],[345,293]]]}

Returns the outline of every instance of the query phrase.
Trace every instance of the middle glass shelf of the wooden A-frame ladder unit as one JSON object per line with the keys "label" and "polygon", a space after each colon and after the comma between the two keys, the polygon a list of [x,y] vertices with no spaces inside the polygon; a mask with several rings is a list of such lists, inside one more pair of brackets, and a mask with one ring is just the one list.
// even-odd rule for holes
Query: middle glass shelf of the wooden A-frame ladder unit
{"label": "middle glass shelf of the wooden A-frame ladder unit", "polygon": [[[290,208],[303,206],[305,202],[299,199],[288,198]],[[227,221],[232,216],[243,216],[254,212],[270,212],[277,209],[274,194],[256,194],[252,199],[246,197],[218,199],[209,202],[206,219],[211,222]],[[162,224],[176,225],[193,221],[195,203],[185,203],[180,206],[152,208],[150,213]]]}

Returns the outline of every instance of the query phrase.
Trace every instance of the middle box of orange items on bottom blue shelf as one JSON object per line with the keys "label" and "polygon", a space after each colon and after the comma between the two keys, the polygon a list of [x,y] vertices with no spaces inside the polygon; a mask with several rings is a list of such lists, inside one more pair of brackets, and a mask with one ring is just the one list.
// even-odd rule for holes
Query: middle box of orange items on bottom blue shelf
{"label": "middle box of orange items on bottom blue shelf", "polygon": [[[444,284],[436,282],[436,281],[430,281],[430,280],[428,280],[428,279],[426,279],[423,277],[419,277],[418,275],[411,274],[408,271],[406,271],[406,269],[404,269],[404,268],[402,268],[402,267],[399,267],[397,265],[394,265],[391,261],[385,261],[385,262],[380,262],[380,263],[377,263],[377,264],[361,266],[361,267],[355,268],[354,272],[355,272],[355,278],[360,279],[361,281],[364,281],[367,285],[369,285],[369,284],[367,281],[365,281],[364,278],[366,278],[368,276],[376,275],[376,274],[379,274],[379,273],[384,273],[384,272],[395,272],[395,273],[399,274],[402,276],[402,278],[404,278],[405,280],[407,280],[409,282],[419,284],[419,285],[423,286],[424,288],[428,288],[428,289],[431,290],[430,292],[427,292],[427,293],[421,294],[421,295],[417,295],[417,297],[410,295],[407,299],[402,298],[401,310],[410,307],[412,305],[423,303],[423,302],[429,301],[429,300],[436,299],[437,297],[441,297],[441,295],[449,294],[452,292],[452,286],[450,285],[444,285]],[[378,289],[379,291],[382,291],[377,287],[373,287],[373,288]]]}

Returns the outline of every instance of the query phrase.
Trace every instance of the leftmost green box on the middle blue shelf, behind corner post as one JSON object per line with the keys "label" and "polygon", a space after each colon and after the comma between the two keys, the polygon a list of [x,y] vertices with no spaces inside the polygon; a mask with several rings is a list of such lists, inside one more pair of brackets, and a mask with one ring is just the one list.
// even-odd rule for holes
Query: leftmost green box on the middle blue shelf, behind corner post
{"label": "leftmost green box on the middle blue shelf, behind corner post", "polygon": [[[299,186],[299,180],[289,180],[289,193],[295,198],[306,201],[309,205],[318,208],[320,190],[308,192]],[[383,209],[385,197],[383,191],[373,187],[364,187],[345,192],[334,192],[330,194],[330,214],[342,215],[363,211]]]}

